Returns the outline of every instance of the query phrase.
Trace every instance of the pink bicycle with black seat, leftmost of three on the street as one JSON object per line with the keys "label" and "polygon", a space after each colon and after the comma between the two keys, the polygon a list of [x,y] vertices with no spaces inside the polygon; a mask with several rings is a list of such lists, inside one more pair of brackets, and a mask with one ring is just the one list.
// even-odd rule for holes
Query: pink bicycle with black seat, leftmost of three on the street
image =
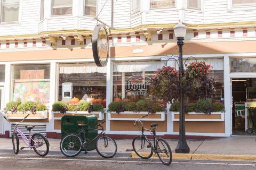
{"label": "pink bicycle with black seat, leftmost of three on the street", "polygon": [[13,146],[13,151],[15,154],[19,153],[19,146],[20,146],[20,141],[19,141],[19,136],[21,139],[24,141],[24,143],[27,145],[27,147],[21,147],[20,150],[24,148],[30,148],[30,150],[33,148],[36,154],[40,156],[45,156],[49,152],[49,141],[44,137],[43,134],[41,133],[34,133],[31,135],[31,130],[35,128],[35,125],[29,125],[25,126],[25,128],[29,131],[29,137],[27,138],[24,133],[22,133],[18,127],[17,123],[22,123],[25,121],[25,119],[29,116],[29,114],[23,118],[21,122],[10,122],[5,116],[4,118],[6,121],[8,121],[11,124],[15,124],[13,133],[12,133],[12,146]]}

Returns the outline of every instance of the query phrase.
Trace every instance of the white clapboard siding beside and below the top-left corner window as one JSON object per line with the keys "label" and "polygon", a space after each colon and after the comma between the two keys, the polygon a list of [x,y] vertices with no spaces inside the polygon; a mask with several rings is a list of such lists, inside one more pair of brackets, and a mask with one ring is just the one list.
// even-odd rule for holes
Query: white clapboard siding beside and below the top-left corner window
{"label": "white clapboard siding beside and below the top-left corner window", "polygon": [[21,18],[20,23],[1,24],[0,35],[24,35],[38,32],[39,8],[38,0],[22,0],[20,1]]}

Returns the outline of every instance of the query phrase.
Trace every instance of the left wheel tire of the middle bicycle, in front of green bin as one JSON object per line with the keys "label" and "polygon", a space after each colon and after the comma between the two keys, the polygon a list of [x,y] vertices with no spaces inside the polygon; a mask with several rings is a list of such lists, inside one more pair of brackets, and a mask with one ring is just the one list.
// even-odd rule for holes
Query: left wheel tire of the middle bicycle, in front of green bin
{"label": "left wheel tire of the middle bicycle, in front of green bin", "polygon": [[[74,138],[74,140],[76,140],[75,142],[77,142],[76,143],[77,148],[74,148],[75,147],[74,140],[73,140],[73,142],[68,141],[69,138],[72,138],[72,137]],[[66,149],[67,146],[65,148],[63,148],[63,144],[66,144],[66,142],[68,142],[68,148],[71,147],[72,149],[78,149],[78,150],[76,150],[76,151],[72,150],[74,152],[74,154],[67,154],[67,149],[68,149],[68,148]],[[60,141],[60,151],[66,157],[77,156],[82,151],[82,139],[80,137],[78,137],[77,134],[74,134],[74,133],[66,134]]]}

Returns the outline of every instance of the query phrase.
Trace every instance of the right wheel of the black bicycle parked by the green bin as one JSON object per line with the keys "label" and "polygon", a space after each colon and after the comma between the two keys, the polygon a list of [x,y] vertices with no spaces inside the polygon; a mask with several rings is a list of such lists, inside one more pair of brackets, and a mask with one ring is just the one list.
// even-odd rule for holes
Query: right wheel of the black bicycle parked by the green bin
{"label": "right wheel of the black bicycle parked by the green bin", "polygon": [[96,150],[98,154],[104,158],[112,158],[116,155],[116,141],[106,135],[98,138],[96,142]]}

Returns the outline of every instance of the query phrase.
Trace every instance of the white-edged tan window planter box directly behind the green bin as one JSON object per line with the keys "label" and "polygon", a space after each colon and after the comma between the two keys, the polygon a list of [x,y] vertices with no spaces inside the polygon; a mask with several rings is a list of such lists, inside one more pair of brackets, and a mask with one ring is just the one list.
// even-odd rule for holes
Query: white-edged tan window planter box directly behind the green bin
{"label": "white-edged tan window planter box directly behind the green bin", "polygon": [[98,118],[98,121],[104,120],[104,113],[102,112],[88,112],[88,111],[67,111],[66,113],[53,112],[54,120],[61,120],[61,117],[64,115],[95,115]]}

